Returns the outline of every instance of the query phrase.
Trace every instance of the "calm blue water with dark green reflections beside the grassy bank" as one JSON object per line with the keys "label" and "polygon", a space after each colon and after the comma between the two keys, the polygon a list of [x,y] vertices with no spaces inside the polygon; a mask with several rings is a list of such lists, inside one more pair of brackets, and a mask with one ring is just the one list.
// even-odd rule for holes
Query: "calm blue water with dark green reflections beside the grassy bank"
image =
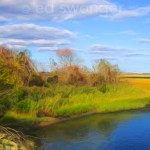
{"label": "calm blue water with dark green reflections beside the grassy bank", "polygon": [[150,112],[93,115],[44,127],[44,150],[150,150]]}

